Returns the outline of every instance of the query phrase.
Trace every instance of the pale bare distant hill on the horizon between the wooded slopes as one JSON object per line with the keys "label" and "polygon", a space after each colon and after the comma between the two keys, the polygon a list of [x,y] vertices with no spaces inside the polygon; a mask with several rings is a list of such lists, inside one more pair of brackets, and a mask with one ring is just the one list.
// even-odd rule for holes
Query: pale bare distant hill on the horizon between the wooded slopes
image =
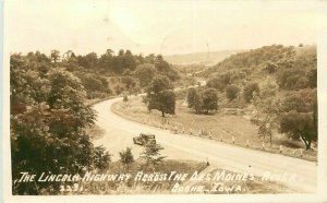
{"label": "pale bare distant hill on the horizon between the wooded slopes", "polygon": [[231,55],[242,52],[245,50],[222,50],[222,51],[211,51],[211,52],[194,52],[185,55],[169,55],[164,56],[164,59],[172,64],[206,64],[213,65],[223,59],[230,57]]}

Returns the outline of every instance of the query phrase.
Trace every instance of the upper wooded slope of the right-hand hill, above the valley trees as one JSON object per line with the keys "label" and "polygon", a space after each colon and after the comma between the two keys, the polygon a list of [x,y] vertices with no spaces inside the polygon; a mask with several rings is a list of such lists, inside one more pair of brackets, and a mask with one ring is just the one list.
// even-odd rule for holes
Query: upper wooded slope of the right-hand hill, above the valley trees
{"label": "upper wooded slope of the right-hand hill, above the valley trees", "polygon": [[299,91],[316,87],[316,46],[264,46],[238,52],[196,73],[209,79],[208,86],[225,91],[230,84],[243,88],[250,82],[275,81],[280,89]]}

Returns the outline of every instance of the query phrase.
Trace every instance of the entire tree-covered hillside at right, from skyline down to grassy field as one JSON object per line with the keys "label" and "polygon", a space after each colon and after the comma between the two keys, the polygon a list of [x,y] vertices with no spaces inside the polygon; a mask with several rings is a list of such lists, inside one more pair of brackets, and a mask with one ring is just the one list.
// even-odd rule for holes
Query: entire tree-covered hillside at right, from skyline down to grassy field
{"label": "entire tree-covered hillside at right, from skyline down to grassy field", "polygon": [[316,46],[264,46],[232,55],[195,75],[207,79],[205,87],[187,93],[196,112],[203,111],[204,93],[216,91],[215,108],[247,111],[258,135],[271,145],[272,136],[284,136],[291,144],[301,141],[306,150],[317,141]]}

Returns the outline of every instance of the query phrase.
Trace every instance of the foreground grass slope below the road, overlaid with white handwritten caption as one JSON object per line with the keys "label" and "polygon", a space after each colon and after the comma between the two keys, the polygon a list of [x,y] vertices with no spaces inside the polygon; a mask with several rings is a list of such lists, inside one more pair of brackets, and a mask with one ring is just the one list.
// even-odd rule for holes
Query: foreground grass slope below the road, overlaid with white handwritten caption
{"label": "foreground grass slope below the road, overlaid with white handwritten caption", "polygon": [[[263,179],[263,177],[250,175],[241,180],[235,176],[241,177],[244,176],[243,174],[207,166],[206,163],[167,159],[155,166],[153,170],[145,170],[143,164],[142,159],[137,159],[129,168],[125,168],[120,162],[111,163],[109,169],[94,172],[130,174],[131,178],[126,181],[80,182],[78,191],[61,190],[60,194],[255,194],[296,192],[296,190],[281,182]],[[210,180],[199,178],[205,174],[210,174]],[[158,175],[158,179],[154,178],[156,175]],[[167,175],[166,179],[162,178],[164,175]],[[171,178],[169,179],[169,177]],[[68,182],[62,188],[66,189],[70,184]],[[43,194],[48,194],[48,191],[44,190]]]}

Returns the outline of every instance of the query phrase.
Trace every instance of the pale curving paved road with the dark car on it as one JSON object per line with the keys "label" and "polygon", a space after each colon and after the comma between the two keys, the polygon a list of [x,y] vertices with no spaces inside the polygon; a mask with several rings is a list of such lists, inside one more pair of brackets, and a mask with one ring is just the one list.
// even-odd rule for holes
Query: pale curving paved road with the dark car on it
{"label": "pale curving paved road with the dark car on it", "polygon": [[199,139],[195,136],[171,134],[167,130],[136,123],[113,114],[111,105],[122,98],[108,99],[94,105],[97,110],[97,124],[105,129],[105,135],[95,140],[95,145],[104,145],[113,155],[119,157],[119,152],[128,146],[135,155],[143,152],[143,147],[134,145],[132,138],[140,132],[156,134],[157,143],[165,150],[162,155],[170,159],[209,160],[214,166],[251,172],[263,176],[265,172],[284,175],[286,178],[295,176],[295,181],[287,181],[287,184],[300,192],[316,192],[317,166],[313,162],[292,158],[279,154],[270,154],[261,151],[231,146],[229,144]]}

